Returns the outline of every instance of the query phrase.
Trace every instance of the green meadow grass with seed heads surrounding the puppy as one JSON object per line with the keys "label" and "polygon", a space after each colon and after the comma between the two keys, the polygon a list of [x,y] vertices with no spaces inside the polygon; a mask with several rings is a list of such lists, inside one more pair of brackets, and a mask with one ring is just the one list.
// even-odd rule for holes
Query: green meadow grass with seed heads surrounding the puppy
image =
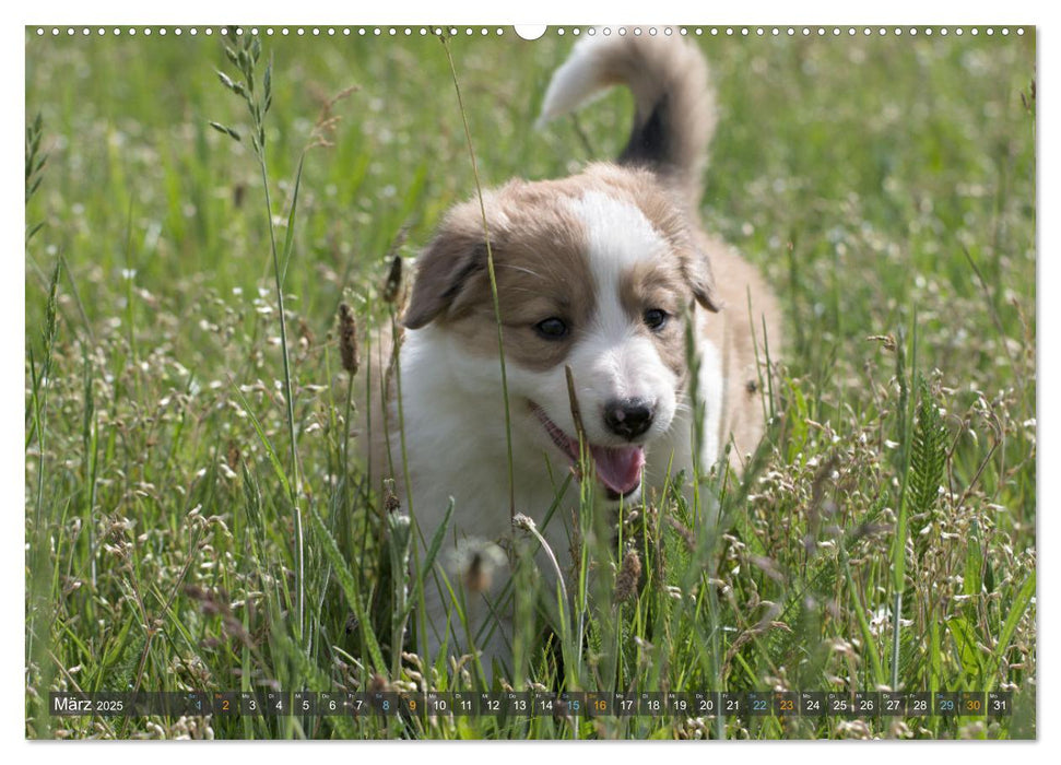
{"label": "green meadow grass with seed heads surrounding the puppy", "polygon": [[[625,93],[531,129],[569,35],[449,46],[484,186],[620,150]],[[703,508],[657,492],[618,534],[585,508],[575,621],[556,651],[518,636],[512,684],[1002,688],[1013,717],[43,714],[49,690],[475,686],[394,650],[426,582],[347,458],[337,330],[342,302],[363,343],[389,327],[392,244],[414,255],[475,178],[446,50],[415,31],[263,38],[262,165],[217,35],[27,31],[47,153],[26,204],[28,737],[1035,735],[1034,35],[705,48],[721,118],[703,214],[782,298],[776,416],[745,479],[704,476]],[[629,550],[639,586],[618,602]]]}

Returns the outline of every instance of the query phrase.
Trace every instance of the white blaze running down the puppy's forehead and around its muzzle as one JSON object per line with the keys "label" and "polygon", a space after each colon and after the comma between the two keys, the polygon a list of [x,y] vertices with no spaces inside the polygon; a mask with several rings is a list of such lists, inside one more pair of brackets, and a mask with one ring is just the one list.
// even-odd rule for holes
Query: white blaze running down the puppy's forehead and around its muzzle
{"label": "white blaze running down the puppy's forehead and around its muzzle", "polygon": [[639,317],[622,305],[623,274],[641,261],[667,257],[669,245],[635,205],[590,191],[570,201],[585,226],[587,258],[596,284],[597,313],[571,350],[570,364],[591,440],[616,440],[602,421],[605,402],[644,399],[656,407],[647,437],[665,431],[674,414],[673,373],[660,360]]}

